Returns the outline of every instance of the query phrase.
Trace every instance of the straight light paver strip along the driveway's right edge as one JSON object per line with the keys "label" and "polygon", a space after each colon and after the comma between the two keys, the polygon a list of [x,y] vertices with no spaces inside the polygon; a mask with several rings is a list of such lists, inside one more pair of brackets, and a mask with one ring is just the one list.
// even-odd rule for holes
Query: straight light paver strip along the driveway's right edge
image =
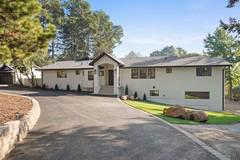
{"label": "straight light paver strip along the driveway's right edge", "polygon": [[161,119],[153,114],[150,114],[148,112],[145,112],[143,110],[140,110],[140,109],[137,109],[137,108],[134,108],[126,103],[124,103],[120,98],[117,98],[118,101],[120,101],[122,104],[124,105],[127,105],[135,110],[138,110],[138,111],[141,111],[143,112],[144,114],[147,114],[147,115],[150,115],[150,116],[153,116],[154,118],[160,120],[161,122],[173,127],[174,129],[178,130],[179,132],[181,132],[182,134],[184,134],[185,136],[187,136],[188,138],[190,138],[191,140],[193,140],[196,144],[198,144],[199,146],[201,146],[203,149],[205,149],[206,151],[208,151],[209,153],[211,153],[212,155],[214,155],[215,157],[217,157],[219,160],[230,160],[229,158],[227,158],[226,156],[224,156],[223,154],[221,154],[220,152],[218,152],[217,150],[213,149],[212,147],[210,147],[209,145],[207,145],[206,143],[204,143],[203,141],[201,141],[200,139],[198,139],[196,136],[194,136],[193,134],[187,132],[186,130],[174,125],[174,124],[171,124],[167,121],[165,121],[164,119]]}

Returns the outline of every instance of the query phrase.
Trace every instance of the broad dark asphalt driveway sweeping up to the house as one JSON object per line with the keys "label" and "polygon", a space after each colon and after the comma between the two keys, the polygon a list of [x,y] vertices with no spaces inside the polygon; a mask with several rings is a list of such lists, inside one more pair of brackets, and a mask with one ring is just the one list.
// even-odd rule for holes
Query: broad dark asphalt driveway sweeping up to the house
{"label": "broad dark asphalt driveway sweeping up to the house", "polygon": [[182,133],[116,98],[42,90],[41,117],[6,160],[215,160]]}

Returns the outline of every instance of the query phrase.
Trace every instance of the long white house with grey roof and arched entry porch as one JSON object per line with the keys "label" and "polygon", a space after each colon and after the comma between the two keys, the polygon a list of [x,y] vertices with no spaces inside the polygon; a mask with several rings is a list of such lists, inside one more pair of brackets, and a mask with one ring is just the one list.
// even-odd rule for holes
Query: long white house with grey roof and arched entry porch
{"label": "long white house with grey roof and arched entry porch", "polygon": [[94,94],[137,92],[154,102],[197,109],[224,110],[223,58],[205,55],[115,58],[102,53],[93,60],[58,61],[40,68],[42,83],[53,88],[92,90]]}

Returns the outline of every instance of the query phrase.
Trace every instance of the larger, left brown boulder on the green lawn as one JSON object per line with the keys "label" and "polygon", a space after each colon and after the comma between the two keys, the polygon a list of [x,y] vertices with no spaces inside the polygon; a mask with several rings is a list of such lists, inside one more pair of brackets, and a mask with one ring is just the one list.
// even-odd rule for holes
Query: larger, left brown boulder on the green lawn
{"label": "larger, left brown boulder on the green lawn", "polygon": [[174,107],[164,108],[163,114],[169,117],[187,119],[186,110],[178,105]]}

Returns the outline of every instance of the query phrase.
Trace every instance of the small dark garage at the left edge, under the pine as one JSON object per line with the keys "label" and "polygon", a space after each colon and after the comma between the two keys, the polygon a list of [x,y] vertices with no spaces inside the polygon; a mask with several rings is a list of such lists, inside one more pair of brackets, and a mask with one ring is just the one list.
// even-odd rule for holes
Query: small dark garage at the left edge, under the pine
{"label": "small dark garage at the left edge, under the pine", "polygon": [[0,84],[14,83],[14,69],[8,65],[0,66]]}

